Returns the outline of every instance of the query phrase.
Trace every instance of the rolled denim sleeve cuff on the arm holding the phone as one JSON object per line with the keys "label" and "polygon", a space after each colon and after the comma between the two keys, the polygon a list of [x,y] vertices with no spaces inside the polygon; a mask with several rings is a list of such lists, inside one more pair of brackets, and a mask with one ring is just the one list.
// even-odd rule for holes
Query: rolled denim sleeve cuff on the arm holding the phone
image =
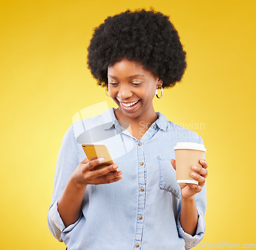
{"label": "rolled denim sleeve cuff on the arm holding the phone", "polygon": [[71,230],[73,230],[75,228],[75,226],[78,224],[78,222],[80,221],[82,213],[80,212],[80,216],[75,223],[73,223],[73,224],[67,226],[67,228],[65,228],[65,225],[64,225],[62,219],[60,218],[60,215],[58,212],[57,203],[58,203],[58,200],[55,201],[55,203],[49,210],[48,225],[49,225],[49,229],[50,229],[51,233],[53,234],[53,236],[57,240],[62,241],[61,233],[68,233]]}

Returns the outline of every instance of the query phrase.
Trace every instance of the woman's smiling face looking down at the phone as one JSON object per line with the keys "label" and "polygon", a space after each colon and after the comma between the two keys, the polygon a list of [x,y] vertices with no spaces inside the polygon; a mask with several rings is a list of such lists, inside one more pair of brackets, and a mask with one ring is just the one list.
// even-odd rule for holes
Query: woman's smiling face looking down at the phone
{"label": "woman's smiling face looking down at the phone", "polygon": [[156,117],[152,101],[162,80],[142,67],[127,59],[108,67],[109,94],[119,106],[115,110],[119,120],[147,122]]}

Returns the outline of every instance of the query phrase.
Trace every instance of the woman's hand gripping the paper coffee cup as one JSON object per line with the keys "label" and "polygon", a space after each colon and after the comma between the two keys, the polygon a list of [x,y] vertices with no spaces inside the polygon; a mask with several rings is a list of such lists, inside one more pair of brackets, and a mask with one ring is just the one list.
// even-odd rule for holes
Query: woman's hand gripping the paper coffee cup
{"label": "woman's hand gripping the paper coffee cup", "polygon": [[[170,160],[170,163],[172,163],[174,169],[176,170],[176,161],[172,159]],[[187,183],[186,185],[180,184],[182,198],[190,198],[202,190],[205,184],[205,179],[208,176],[208,171],[206,170],[206,168],[208,167],[208,164],[205,160],[200,160],[200,164],[202,165],[202,167],[192,166],[192,169],[197,173],[191,173],[191,176],[195,180],[197,180],[199,184],[198,185],[191,184],[191,183]]]}

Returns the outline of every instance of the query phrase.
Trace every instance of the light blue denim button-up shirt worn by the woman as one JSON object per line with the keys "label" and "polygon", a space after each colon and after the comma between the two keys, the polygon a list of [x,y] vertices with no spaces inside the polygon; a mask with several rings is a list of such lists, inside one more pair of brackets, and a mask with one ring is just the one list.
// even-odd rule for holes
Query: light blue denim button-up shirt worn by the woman
{"label": "light blue denim button-up shirt worn by the woman", "polygon": [[[114,108],[73,123],[65,133],[57,158],[48,225],[69,250],[179,250],[202,240],[206,186],[195,195],[199,217],[196,235],[191,236],[179,221],[180,186],[170,163],[175,159],[177,142],[203,144],[202,138],[168,121],[160,112],[157,115],[140,141],[119,125]],[[145,125],[141,123],[141,128]],[[106,144],[123,178],[112,184],[88,185],[79,219],[65,228],[57,202],[70,175],[86,158],[81,143]]]}

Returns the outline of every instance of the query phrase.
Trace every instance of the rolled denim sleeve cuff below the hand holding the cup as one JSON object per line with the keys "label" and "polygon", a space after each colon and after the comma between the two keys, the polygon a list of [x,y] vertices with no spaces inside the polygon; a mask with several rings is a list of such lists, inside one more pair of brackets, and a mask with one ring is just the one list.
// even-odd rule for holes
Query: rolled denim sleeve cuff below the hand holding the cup
{"label": "rolled denim sleeve cuff below the hand holding the cup", "polygon": [[199,211],[198,211],[198,215],[199,217],[197,222],[197,231],[194,236],[184,232],[180,224],[180,213],[178,215],[178,220],[177,220],[178,233],[179,233],[179,236],[185,240],[185,249],[190,249],[192,247],[195,247],[204,237],[205,228],[206,228],[205,220]]}

